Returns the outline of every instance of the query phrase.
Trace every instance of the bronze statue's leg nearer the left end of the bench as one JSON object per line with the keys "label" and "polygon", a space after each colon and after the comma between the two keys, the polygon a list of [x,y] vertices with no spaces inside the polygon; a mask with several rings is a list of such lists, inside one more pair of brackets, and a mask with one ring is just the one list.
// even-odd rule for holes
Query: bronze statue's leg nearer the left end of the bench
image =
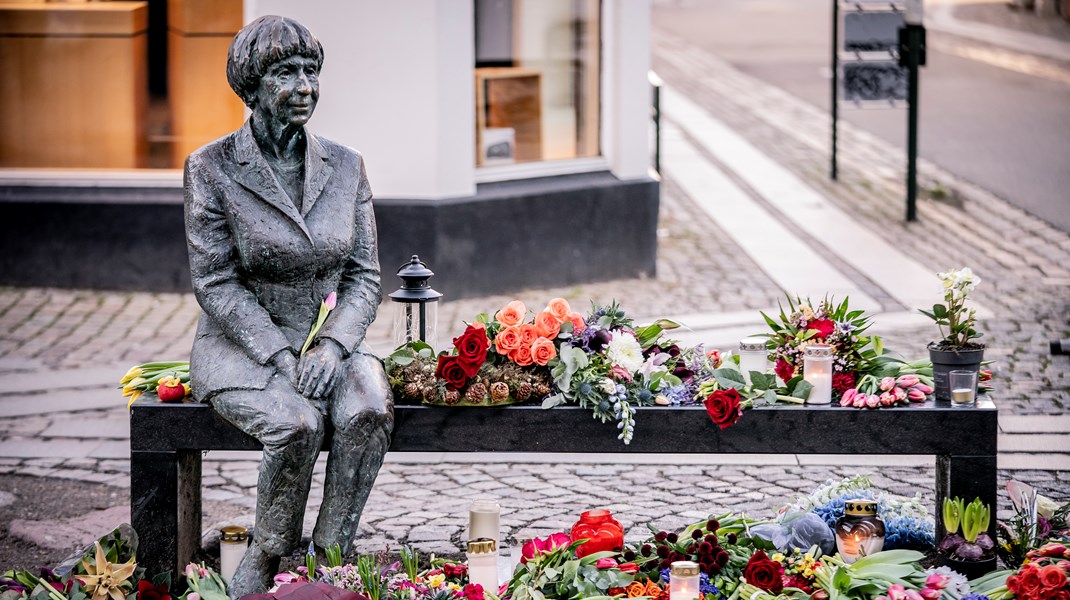
{"label": "bronze statue's leg nearer the left end of the bench", "polygon": [[279,557],[301,540],[312,467],[323,444],[323,416],[279,375],[263,391],[224,391],[211,403],[264,446],[253,543],[228,588],[231,598],[241,598],[266,590]]}

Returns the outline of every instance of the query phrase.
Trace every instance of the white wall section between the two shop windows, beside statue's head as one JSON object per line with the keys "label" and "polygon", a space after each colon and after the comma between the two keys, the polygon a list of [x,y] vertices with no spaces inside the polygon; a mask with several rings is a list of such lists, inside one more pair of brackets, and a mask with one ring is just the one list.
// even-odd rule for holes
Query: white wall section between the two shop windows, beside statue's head
{"label": "white wall section between the two shop windows, beside statue's head", "polygon": [[380,198],[475,194],[472,0],[245,0],[323,44],[309,127],[364,154]]}

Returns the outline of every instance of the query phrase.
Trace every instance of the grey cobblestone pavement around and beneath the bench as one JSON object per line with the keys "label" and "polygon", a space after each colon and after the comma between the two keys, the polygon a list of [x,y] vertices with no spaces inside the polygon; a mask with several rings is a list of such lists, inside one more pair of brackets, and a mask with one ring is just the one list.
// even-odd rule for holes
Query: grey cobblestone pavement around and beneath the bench
{"label": "grey cobblestone pavement around and beneath the bench", "polygon": [[[1068,450],[1060,444],[1070,417],[1059,415],[1070,400],[1070,369],[1066,357],[1048,355],[1046,342],[1070,336],[1070,239],[930,164],[921,166],[926,188],[945,190],[947,198],[922,200],[920,220],[906,225],[898,153],[844,126],[841,179],[829,182],[825,114],[666,32],[655,31],[653,40],[654,65],[669,86],[859,224],[884,232],[932,272],[969,265],[984,278],[977,297],[993,313],[982,326],[988,356],[997,360],[1000,406],[1009,417],[1035,419],[1013,421],[1020,432],[1046,432],[1036,436],[1039,446],[1027,448],[1034,453],[1022,455],[1025,458],[1012,470],[1003,470],[1000,478],[1015,477],[1056,498],[1070,497],[1070,471],[1033,470],[1029,462],[1044,448]],[[671,119],[672,112],[667,114]],[[688,135],[687,123],[669,126]],[[827,251],[823,256],[853,276],[859,289],[882,304],[888,302],[888,290],[866,274]],[[671,179],[662,187],[657,273],[642,280],[444,302],[440,341],[456,335],[462,320],[514,297],[539,306],[563,296],[579,307],[588,299],[615,298],[638,317],[716,316],[774,307],[785,292]],[[387,276],[384,287],[393,284]],[[126,490],[128,419],[113,382],[132,364],[186,357],[198,311],[187,294],[0,290],[0,414],[7,417],[0,420],[0,476],[70,479]],[[389,306],[384,305],[369,333],[381,353],[389,351]],[[930,328],[913,324],[881,333],[889,345],[914,349],[916,354],[933,337]],[[54,391],[46,394],[49,390]],[[1040,426],[1048,429],[1030,429]],[[255,455],[213,453],[205,460],[207,529],[224,521],[250,521],[257,477],[257,462],[250,457]],[[440,463],[388,458],[362,521],[358,547],[380,550],[411,543],[427,552],[456,553],[467,523],[467,501],[486,495],[500,498],[503,529],[508,534],[560,528],[580,510],[597,505],[617,513],[629,526],[630,539],[641,537],[648,521],[672,527],[710,512],[768,514],[791,494],[858,472],[877,471],[877,487],[890,492],[919,491],[930,503],[933,497],[934,473],[928,460],[867,463],[865,458],[845,457],[822,465],[774,455],[754,461],[765,462],[762,466],[747,466],[739,464],[747,457],[706,457],[699,461],[702,464],[586,458],[571,463],[504,462],[500,457],[485,463],[452,462],[459,459],[450,457]],[[322,483],[322,461],[317,478]],[[126,502],[124,492],[119,504]],[[317,503],[314,497],[309,521]],[[1004,498],[1000,510],[1006,509]]]}

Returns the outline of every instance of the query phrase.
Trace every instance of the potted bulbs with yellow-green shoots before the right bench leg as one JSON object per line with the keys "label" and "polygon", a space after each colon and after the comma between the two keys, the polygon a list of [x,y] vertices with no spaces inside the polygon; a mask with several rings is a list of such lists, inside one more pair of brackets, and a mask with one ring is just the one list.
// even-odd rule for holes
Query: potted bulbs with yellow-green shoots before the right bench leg
{"label": "potted bulbs with yellow-green shoots before the right bench leg", "polygon": [[941,561],[951,569],[977,579],[996,568],[996,543],[989,535],[992,509],[974,498],[944,498],[944,539],[936,544]]}

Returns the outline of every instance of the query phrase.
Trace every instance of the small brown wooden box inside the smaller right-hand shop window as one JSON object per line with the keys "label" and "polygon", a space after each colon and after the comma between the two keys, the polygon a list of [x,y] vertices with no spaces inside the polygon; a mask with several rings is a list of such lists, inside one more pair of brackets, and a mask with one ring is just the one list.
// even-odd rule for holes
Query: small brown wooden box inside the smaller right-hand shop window
{"label": "small brown wooden box inside the smaller right-hand shop window", "polygon": [[484,130],[509,127],[516,133],[514,158],[542,159],[541,75],[538,70],[494,66],[475,70],[476,165],[483,166]]}

